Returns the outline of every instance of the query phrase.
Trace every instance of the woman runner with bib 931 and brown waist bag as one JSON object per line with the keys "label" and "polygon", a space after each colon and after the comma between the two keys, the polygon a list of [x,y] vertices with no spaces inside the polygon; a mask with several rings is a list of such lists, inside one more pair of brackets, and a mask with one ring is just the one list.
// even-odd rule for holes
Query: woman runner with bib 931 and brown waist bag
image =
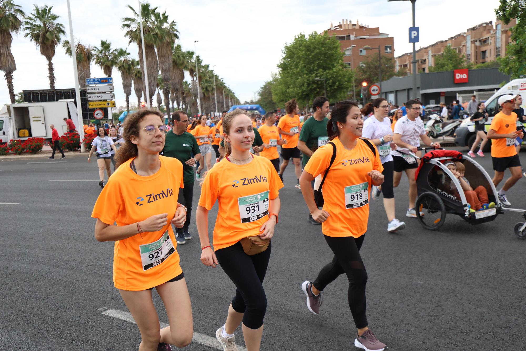
{"label": "woman runner with bib 931 and brown waist bag", "polygon": [[[225,350],[237,350],[234,331],[242,323],[249,351],[259,350],[267,297],[265,278],[283,187],[270,160],[250,153],[254,125],[236,109],[223,118],[225,159],[205,175],[196,211],[201,262],[225,271],[236,285],[224,325],[216,338]],[[208,236],[208,211],[219,202],[213,243]],[[213,247],[212,247],[213,245]]]}

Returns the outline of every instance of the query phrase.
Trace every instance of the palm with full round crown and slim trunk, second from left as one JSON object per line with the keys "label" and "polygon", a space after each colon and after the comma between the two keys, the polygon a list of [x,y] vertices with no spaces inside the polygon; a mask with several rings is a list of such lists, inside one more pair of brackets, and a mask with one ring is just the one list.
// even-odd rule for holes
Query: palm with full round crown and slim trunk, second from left
{"label": "palm with full round crown and slim trunk, second from left", "polygon": [[60,16],[51,12],[53,6],[33,6],[33,12],[24,21],[24,31],[26,31],[24,36],[31,38],[36,46],[40,47],[40,53],[46,57],[49,89],[55,89],[55,74],[52,60],[55,56],[55,48],[60,43],[60,37],[66,35],[66,31],[62,23],[56,23]]}

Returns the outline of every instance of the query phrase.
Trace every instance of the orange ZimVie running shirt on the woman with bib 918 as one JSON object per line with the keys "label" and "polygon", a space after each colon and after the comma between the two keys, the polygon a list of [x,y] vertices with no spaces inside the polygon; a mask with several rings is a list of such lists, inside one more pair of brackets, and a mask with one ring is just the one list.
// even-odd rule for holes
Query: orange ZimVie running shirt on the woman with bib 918
{"label": "orange ZimVie running shirt on the woman with bib 918", "polygon": [[[321,231],[329,237],[358,238],[367,231],[371,190],[371,177],[367,172],[373,169],[381,172],[383,167],[378,150],[374,157],[366,143],[357,140],[352,150],[345,149],[338,137],[332,140],[336,144],[336,159],[322,189],[323,210],[330,216],[321,223]],[[305,171],[314,177],[325,174],[331,157],[332,145],[327,143],[312,154]]]}

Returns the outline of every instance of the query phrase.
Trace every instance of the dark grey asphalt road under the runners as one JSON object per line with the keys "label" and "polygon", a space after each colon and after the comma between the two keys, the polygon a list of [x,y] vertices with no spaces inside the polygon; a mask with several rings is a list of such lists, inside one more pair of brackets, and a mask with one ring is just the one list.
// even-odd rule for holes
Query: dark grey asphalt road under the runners
{"label": "dark grey asphalt road under the runners", "polygon": [[[526,164],[526,150],[520,157]],[[489,154],[476,160],[492,174]],[[100,192],[96,163],[84,157],[64,161],[0,161],[0,202],[19,203],[0,204],[0,349],[136,350],[136,325],[102,314],[128,310],[113,287],[113,242],[94,239],[90,214]],[[289,165],[264,284],[268,310],[261,349],[353,350],[356,329],[345,275],[323,291],[320,315],[306,307],[300,284],[313,280],[332,255],[320,226],[306,221],[308,210],[295,181]],[[403,217],[406,178],[395,197],[397,216],[407,228],[388,234],[382,202],[372,202],[361,250],[369,275],[367,315],[378,338],[390,350],[524,349],[526,240],[513,233],[514,224],[523,221],[520,214],[505,213],[479,226],[448,216],[442,229],[432,232]],[[525,198],[522,179],[508,199],[525,208]],[[216,213],[217,205],[210,217]],[[220,268],[201,264],[195,223],[190,231],[194,239],[177,250],[194,330],[214,337],[235,287]],[[156,292],[154,302],[166,323]],[[244,345],[241,328],[236,342]],[[192,343],[187,349],[216,348]]]}

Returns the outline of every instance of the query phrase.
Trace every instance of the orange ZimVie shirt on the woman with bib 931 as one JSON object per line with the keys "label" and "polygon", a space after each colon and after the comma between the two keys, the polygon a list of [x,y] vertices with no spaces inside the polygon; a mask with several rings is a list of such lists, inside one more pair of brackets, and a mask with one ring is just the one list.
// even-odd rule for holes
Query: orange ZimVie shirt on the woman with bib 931
{"label": "orange ZimVie shirt on the woman with bib 931", "polygon": [[283,183],[264,157],[247,164],[221,160],[205,177],[199,206],[211,210],[219,201],[214,227],[214,251],[234,245],[242,238],[259,235],[269,218],[269,200],[278,197]]}

